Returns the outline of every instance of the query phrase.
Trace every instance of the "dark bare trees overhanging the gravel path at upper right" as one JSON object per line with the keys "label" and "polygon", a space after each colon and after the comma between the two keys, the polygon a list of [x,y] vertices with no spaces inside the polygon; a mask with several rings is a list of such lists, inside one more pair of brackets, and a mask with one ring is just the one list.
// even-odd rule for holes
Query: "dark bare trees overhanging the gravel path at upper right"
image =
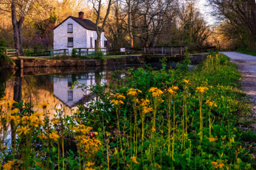
{"label": "dark bare trees overhanging the gravel path at upper right", "polygon": [[233,48],[256,50],[256,1],[207,0],[211,14],[219,20],[218,30],[233,41]]}

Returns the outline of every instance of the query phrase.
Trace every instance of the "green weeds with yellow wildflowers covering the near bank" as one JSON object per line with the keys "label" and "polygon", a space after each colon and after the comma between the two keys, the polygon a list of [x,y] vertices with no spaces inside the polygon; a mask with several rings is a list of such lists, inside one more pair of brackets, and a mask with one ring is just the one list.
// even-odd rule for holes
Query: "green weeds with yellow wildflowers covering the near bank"
{"label": "green weeds with yellow wildflowers covering the near bank", "polygon": [[193,71],[187,64],[166,71],[163,60],[160,71],[131,69],[125,85],[87,87],[96,100],[73,116],[54,108],[52,120],[47,103],[38,113],[3,98],[0,168],[253,169],[236,130],[248,110],[236,65],[213,53]]}

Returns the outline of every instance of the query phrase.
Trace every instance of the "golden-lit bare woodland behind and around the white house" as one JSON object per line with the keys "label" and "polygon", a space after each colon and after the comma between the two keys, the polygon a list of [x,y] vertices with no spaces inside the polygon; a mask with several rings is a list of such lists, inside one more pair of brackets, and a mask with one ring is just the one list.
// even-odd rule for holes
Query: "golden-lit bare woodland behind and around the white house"
{"label": "golden-lit bare woodland behind and around the white house", "polygon": [[[52,29],[68,16],[84,11],[92,20],[99,46],[102,31],[111,48],[209,44],[210,26],[195,3],[179,0],[0,0],[0,36],[8,46],[52,48]],[[44,9],[44,10],[42,10]],[[16,13],[15,13],[16,12]],[[1,15],[1,14],[0,14]],[[11,31],[12,30],[12,31]],[[13,40],[10,40],[10,36]],[[14,42],[14,44],[12,44]]]}

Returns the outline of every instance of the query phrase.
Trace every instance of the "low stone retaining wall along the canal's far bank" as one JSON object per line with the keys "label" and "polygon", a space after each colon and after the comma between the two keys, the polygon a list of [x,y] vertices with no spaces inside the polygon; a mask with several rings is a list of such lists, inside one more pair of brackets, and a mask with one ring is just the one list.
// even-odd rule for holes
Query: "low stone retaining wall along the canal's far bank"
{"label": "low stone retaining wall along the canal's far bank", "polygon": [[[190,60],[192,64],[198,64],[204,60],[206,54],[192,54]],[[167,62],[180,62],[185,58],[184,55],[178,57],[167,57]],[[35,67],[88,67],[100,65],[124,65],[141,64],[141,62],[151,63],[160,62],[161,57],[145,57],[143,55],[130,55],[122,58],[109,59],[44,59],[20,57],[13,59],[15,65],[12,68],[35,68]]]}

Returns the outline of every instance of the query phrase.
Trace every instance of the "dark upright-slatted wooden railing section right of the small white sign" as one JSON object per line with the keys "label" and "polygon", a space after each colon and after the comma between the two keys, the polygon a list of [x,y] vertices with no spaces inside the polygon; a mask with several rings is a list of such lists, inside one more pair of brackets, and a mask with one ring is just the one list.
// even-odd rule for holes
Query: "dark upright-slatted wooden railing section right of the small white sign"
{"label": "dark upright-slatted wooden railing section right of the small white sign", "polygon": [[185,47],[144,47],[144,55],[182,55],[185,53]]}

